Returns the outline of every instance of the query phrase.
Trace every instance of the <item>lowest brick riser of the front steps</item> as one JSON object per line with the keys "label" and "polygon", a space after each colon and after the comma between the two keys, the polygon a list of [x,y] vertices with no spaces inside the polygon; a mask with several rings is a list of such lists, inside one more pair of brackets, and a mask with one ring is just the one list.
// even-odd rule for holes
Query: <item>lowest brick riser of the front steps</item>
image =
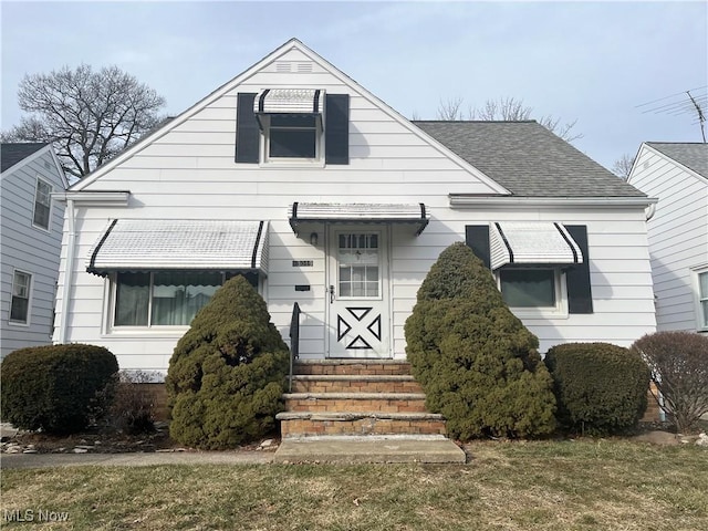
{"label": "lowest brick riser of the front steps", "polygon": [[323,435],[445,435],[444,420],[282,420],[283,438]]}

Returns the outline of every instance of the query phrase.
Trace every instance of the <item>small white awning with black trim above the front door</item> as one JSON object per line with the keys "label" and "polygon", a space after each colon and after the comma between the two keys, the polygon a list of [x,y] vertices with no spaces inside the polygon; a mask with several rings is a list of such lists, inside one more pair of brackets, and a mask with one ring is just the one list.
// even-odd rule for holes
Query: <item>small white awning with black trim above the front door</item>
{"label": "small white awning with black trim above the front door", "polygon": [[356,204],[356,202],[293,202],[289,211],[290,226],[294,232],[305,222],[340,223],[410,223],[416,236],[423,232],[430,215],[423,202],[405,204]]}

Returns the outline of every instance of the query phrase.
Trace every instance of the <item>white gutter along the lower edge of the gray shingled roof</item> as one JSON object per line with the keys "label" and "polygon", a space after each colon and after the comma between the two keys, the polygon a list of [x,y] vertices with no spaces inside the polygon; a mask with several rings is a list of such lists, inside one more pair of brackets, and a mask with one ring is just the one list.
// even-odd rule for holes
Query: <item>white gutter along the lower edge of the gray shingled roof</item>
{"label": "white gutter along the lower edge of the gray shingled roof", "polygon": [[654,197],[516,197],[516,196],[470,196],[466,194],[449,194],[450,208],[472,207],[642,207],[654,205],[658,199]]}

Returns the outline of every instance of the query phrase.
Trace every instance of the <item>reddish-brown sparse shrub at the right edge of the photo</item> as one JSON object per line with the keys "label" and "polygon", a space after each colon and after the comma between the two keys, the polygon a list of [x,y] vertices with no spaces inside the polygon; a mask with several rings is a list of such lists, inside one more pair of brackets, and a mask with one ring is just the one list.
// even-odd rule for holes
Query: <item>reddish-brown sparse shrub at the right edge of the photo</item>
{"label": "reddish-brown sparse shrub at the right edge of the photo", "polygon": [[696,430],[700,417],[708,413],[708,336],[657,332],[635,341],[632,350],[649,366],[663,398],[659,407],[678,431]]}

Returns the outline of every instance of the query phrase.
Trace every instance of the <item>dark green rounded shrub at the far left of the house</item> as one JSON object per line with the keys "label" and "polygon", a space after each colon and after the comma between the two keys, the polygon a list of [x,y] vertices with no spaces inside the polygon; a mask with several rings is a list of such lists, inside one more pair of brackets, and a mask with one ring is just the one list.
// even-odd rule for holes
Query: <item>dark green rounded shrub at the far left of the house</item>
{"label": "dark green rounded shrub at the far left of the house", "polygon": [[103,346],[30,346],[2,361],[2,419],[52,434],[81,431],[107,413],[118,372]]}

